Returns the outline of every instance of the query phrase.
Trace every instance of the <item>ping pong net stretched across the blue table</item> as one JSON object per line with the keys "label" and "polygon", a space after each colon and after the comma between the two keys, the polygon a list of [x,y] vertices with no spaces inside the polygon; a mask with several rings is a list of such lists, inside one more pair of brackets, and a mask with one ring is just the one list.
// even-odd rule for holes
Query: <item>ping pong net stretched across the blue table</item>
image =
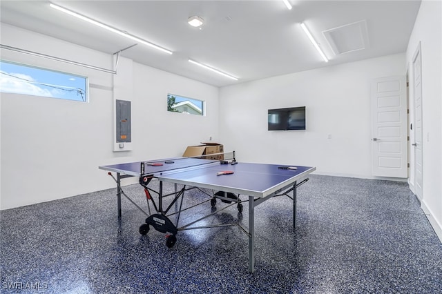
{"label": "ping pong net stretched across the blue table", "polygon": [[220,164],[236,163],[235,151],[227,153],[212,153],[193,157],[173,157],[155,161],[141,161],[140,175],[152,175],[155,173],[180,170],[183,168],[193,168],[202,166],[204,164],[213,164],[215,162],[220,162]]}

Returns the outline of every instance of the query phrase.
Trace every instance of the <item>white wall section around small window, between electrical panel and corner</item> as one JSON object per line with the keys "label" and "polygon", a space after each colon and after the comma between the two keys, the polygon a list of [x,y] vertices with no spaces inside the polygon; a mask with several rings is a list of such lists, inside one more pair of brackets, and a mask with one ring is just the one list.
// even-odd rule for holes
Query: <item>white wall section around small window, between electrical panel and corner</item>
{"label": "white wall section around small window, between electrical panel and corner", "polygon": [[[138,63],[134,63],[133,83],[137,97],[133,102],[133,108],[137,109],[133,135],[143,146],[137,150],[139,157],[181,156],[186,146],[209,141],[209,137],[218,140],[218,87]],[[205,101],[206,115],[166,111],[168,93]]]}

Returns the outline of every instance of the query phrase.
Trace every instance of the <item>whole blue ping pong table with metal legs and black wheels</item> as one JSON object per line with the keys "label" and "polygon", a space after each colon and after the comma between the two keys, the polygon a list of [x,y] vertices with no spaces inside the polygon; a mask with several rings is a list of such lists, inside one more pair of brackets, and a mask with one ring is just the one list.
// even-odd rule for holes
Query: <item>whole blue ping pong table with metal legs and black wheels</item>
{"label": "whole blue ping pong table with metal legs and black wheels", "polygon": [[[255,207],[262,202],[276,196],[286,195],[293,200],[293,226],[296,226],[296,188],[308,181],[306,177],[314,172],[316,168],[309,166],[281,166],[277,164],[256,164],[238,162],[233,152],[232,160],[213,160],[195,157],[176,157],[169,159],[158,159],[153,161],[137,161],[125,164],[113,164],[99,166],[107,170],[117,183],[117,206],[118,216],[121,217],[121,196],[124,195],[132,204],[137,206],[146,216],[146,223],[140,226],[140,233],[146,235],[150,226],[161,233],[171,233],[167,236],[166,245],[172,247],[176,242],[178,231],[194,228],[208,228],[213,226],[193,226],[200,220],[211,217],[221,210],[196,219],[190,224],[180,226],[180,213],[182,208],[184,192],[191,188],[206,188],[218,190],[218,193],[210,195],[211,206],[216,205],[216,199],[227,203],[227,207],[237,204],[238,212],[242,213],[242,202],[248,202],[249,227],[239,226],[249,237],[249,272],[255,270]],[[226,164],[227,163],[227,164]],[[229,172],[229,173],[225,173]],[[233,172],[233,173],[232,173]],[[116,173],[116,177],[112,173]],[[139,177],[141,186],[144,187],[148,203],[148,213],[126,195],[121,186],[121,179],[125,177]],[[159,181],[159,190],[152,190],[149,186],[151,179]],[[163,182],[175,184],[175,192],[165,194]],[[177,189],[177,185],[182,188]],[[153,192],[155,197],[153,197]],[[289,195],[292,194],[292,196]],[[248,200],[242,200],[240,195],[247,196]],[[163,200],[172,196],[173,200],[169,206],[163,207]],[[155,198],[155,199],[154,199]],[[156,201],[155,201],[156,200]],[[153,204],[155,213],[151,213],[150,204]],[[200,204],[205,204],[206,201]],[[175,206],[173,206],[175,204]],[[179,208],[178,208],[179,205]],[[171,213],[171,208],[175,212]],[[226,207],[226,208],[227,208]],[[222,210],[225,208],[222,208]],[[177,211],[176,211],[177,210]],[[173,222],[172,215],[175,215]],[[220,226],[223,226],[221,224]]]}

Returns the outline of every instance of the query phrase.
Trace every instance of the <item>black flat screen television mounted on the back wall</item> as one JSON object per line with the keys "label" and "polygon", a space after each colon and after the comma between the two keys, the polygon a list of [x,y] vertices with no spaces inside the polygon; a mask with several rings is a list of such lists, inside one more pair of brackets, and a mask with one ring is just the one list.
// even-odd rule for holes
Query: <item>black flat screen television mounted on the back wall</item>
{"label": "black flat screen television mounted on the back wall", "polygon": [[269,130],[305,130],[305,106],[269,109]]}

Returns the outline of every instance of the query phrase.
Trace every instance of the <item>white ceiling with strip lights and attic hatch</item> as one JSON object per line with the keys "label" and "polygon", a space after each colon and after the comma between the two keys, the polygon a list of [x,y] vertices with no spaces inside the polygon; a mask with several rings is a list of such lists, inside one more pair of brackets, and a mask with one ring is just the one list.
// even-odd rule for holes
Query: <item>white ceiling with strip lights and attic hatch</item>
{"label": "white ceiling with strip lights and attic hatch", "polygon": [[[173,51],[169,55],[138,44],[122,51],[123,57],[214,86],[405,52],[421,3],[417,0],[289,1],[293,5],[291,10],[282,0],[52,3]],[[1,0],[1,22],[111,55],[135,44],[54,10],[49,3]],[[187,23],[193,15],[204,19],[202,30]],[[346,32],[358,32],[359,26],[346,25],[359,21],[365,21],[362,27],[366,27],[367,37],[347,37]],[[305,23],[320,43],[328,63],[307,39],[300,22]],[[341,26],[345,26],[344,30],[334,30]],[[334,36],[335,44],[327,42],[326,36]],[[335,50],[360,48],[361,41],[361,50],[335,55],[332,49],[332,46]],[[234,75],[238,81],[195,66],[188,59]]]}

